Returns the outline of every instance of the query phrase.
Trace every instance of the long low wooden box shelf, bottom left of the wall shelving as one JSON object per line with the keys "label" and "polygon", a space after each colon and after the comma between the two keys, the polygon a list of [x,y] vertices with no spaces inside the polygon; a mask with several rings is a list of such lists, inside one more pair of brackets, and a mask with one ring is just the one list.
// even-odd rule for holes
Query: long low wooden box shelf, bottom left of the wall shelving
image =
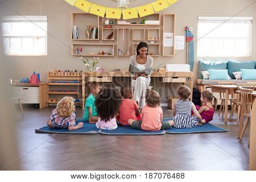
{"label": "long low wooden box shelf, bottom left of the wall shelving", "polygon": [[[82,48],[82,54],[76,54],[77,47]],[[104,51],[106,55],[97,55]],[[72,44],[73,56],[114,56],[114,44]]]}

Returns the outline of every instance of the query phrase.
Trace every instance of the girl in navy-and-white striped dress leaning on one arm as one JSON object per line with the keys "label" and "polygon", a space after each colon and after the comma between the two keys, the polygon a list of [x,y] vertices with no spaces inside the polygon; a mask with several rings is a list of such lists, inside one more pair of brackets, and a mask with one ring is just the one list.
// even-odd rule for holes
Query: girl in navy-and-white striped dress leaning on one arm
{"label": "girl in navy-and-white striped dress leaning on one arm", "polygon": [[[179,129],[191,128],[205,123],[205,120],[201,118],[196,110],[196,106],[188,100],[191,90],[187,86],[181,85],[177,89],[177,94],[179,100],[174,104],[174,127]],[[191,116],[191,110],[193,110],[196,117]]]}

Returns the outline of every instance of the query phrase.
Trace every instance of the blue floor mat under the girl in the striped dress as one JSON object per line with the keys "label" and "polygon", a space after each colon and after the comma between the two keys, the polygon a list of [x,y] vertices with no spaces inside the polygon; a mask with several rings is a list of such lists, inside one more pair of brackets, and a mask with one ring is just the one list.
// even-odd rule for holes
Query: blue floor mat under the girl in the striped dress
{"label": "blue floor mat under the girl in the striped dress", "polygon": [[187,133],[214,133],[214,132],[225,132],[228,130],[222,129],[221,127],[214,126],[210,123],[205,123],[201,126],[192,127],[190,129],[176,129],[170,127],[168,130],[164,130],[168,134],[187,134]]}

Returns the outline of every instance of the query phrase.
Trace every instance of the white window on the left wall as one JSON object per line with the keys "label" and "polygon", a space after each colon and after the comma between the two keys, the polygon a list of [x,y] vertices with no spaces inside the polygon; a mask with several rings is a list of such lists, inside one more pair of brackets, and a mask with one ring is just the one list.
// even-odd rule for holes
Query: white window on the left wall
{"label": "white window on the left wall", "polygon": [[5,16],[2,36],[7,55],[47,55],[47,16]]}

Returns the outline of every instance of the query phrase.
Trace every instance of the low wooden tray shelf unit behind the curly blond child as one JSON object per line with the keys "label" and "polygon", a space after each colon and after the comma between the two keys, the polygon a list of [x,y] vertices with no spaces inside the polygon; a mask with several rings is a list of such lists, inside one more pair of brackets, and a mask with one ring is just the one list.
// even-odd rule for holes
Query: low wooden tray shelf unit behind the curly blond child
{"label": "low wooden tray shelf unit behind the curly blond child", "polygon": [[76,101],[79,100],[75,104],[82,106],[81,93],[82,75],[80,73],[73,73],[73,75],[52,75],[51,72],[48,72],[47,105],[57,104],[66,95],[75,98]]}

